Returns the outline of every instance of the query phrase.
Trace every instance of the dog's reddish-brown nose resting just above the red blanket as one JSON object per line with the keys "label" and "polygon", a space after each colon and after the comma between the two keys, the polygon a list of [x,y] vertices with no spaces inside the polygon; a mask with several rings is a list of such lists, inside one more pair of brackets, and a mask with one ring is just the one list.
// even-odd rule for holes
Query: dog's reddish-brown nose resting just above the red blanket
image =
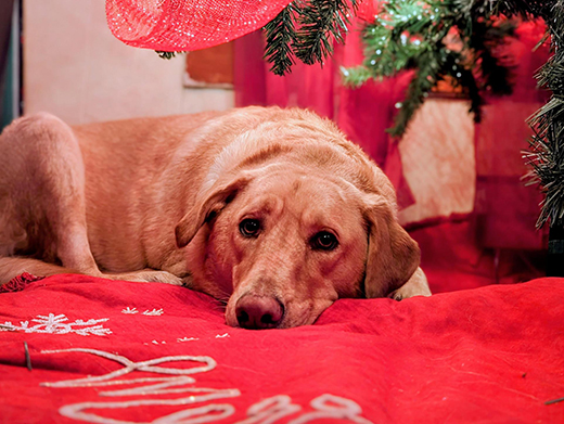
{"label": "dog's reddish-brown nose resting just above the red blanket", "polygon": [[246,295],[238,300],[235,314],[243,329],[274,329],[282,321],[284,307],[273,297]]}

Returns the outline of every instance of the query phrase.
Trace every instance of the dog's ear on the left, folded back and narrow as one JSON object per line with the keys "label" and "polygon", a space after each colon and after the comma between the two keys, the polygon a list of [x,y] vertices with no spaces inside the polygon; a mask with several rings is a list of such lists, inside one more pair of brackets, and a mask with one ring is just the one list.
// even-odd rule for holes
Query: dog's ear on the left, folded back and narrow
{"label": "dog's ear on the left, folded back and narrow", "polygon": [[198,194],[192,209],[182,217],[175,229],[177,246],[188,245],[200,228],[216,217],[249,181],[251,176],[239,176],[229,182],[216,182],[211,189]]}

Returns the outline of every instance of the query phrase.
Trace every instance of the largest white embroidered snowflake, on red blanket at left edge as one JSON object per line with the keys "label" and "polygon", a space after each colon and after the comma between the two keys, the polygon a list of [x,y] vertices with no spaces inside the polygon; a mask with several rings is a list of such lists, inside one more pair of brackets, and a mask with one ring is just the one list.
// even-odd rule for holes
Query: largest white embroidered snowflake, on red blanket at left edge
{"label": "largest white embroidered snowflake, on red blanket at left edge", "polygon": [[10,321],[5,321],[1,326],[0,331],[23,331],[26,333],[50,333],[50,334],[68,334],[75,333],[81,336],[97,335],[103,336],[112,334],[112,330],[104,329],[100,322],[106,322],[108,318],[102,318],[100,320],[76,320],[75,322],[68,321],[65,314],[55,316],[49,313],[49,317],[37,316],[33,319],[33,322],[37,322],[36,325],[29,325],[29,321],[20,321],[20,325],[14,325]]}

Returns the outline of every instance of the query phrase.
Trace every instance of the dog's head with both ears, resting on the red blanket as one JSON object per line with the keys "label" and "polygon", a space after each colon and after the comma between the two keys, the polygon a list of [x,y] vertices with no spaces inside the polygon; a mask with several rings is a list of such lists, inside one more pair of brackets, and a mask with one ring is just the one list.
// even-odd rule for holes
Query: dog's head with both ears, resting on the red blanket
{"label": "dog's head with both ears, resting on the red blanket", "polygon": [[419,247],[394,200],[267,168],[217,181],[176,228],[177,244],[190,243],[194,288],[229,298],[228,324],[311,324],[337,298],[386,296],[415,271]]}

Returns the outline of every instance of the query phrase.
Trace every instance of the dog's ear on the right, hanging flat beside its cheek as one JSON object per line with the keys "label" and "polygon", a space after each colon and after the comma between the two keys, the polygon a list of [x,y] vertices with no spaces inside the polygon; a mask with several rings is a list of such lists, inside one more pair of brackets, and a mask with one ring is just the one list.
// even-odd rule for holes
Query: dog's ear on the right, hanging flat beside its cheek
{"label": "dog's ear on the right, hanging flat beside its cheek", "polygon": [[364,293],[369,298],[387,296],[419,267],[419,246],[401,228],[394,210],[381,196],[371,198],[364,210],[369,231]]}

